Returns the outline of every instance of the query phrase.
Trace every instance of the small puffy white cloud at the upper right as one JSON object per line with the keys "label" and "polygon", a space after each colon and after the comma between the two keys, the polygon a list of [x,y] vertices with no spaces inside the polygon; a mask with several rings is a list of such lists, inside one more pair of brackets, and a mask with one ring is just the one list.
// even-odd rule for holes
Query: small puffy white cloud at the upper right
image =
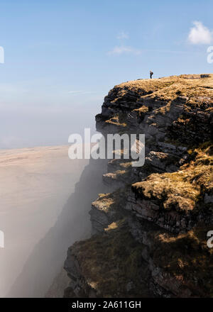
{"label": "small puffy white cloud at the upper right", "polygon": [[208,45],[212,43],[213,33],[200,21],[193,22],[194,27],[190,29],[188,40],[193,45]]}

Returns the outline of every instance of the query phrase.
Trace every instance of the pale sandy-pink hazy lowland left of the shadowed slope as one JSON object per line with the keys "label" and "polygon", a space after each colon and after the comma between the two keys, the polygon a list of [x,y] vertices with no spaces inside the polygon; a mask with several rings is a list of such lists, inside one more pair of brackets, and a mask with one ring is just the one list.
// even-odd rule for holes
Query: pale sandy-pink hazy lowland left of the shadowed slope
{"label": "pale sandy-pink hazy lowland left of the shadowed slope", "polygon": [[[0,230],[5,236],[0,248],[1,297],[8,294],[35,245],[57,221],[89,162],[70,160],[67,151],[68,146],[0,151]],[[20,296],[25,293],[20,289]]]}

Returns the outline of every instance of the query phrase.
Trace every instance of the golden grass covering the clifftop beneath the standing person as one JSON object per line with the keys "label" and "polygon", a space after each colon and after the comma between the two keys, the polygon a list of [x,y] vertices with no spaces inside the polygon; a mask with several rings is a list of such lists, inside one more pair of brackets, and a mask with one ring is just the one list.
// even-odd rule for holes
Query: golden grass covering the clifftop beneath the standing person
{"label": "golden grass covering the clifftop beneath the standing person", "polygon": [[[204,76],[204,77],[203,77]],[[118,97],[126,92],[138,93],[138,101],[143,98],[160,101],[174,101],[178,96],[185,96],[185,104],[201,106],[213,101],[213,74],[192,74],[163,77],[160,79],[139,79],[115,86],[119,89]],[[202,78],[203,77],[203,78]],[[114,99],[116,102],[116,99]]]}

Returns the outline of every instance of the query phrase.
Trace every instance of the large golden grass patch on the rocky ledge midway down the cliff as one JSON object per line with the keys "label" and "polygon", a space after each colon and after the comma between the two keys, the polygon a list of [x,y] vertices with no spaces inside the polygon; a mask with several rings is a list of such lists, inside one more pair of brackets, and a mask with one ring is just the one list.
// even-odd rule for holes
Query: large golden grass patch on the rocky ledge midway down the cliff
{"label": "large golden grass patch on the rocky ledge midway down the cliff", "polygon": [[151,174],[146,181],[133,184],[133,191],[157,200],[163,209],[187,212],[198,208],[205,194],[213,194],[212,145],[190,154],[190,162],[178,172]]}

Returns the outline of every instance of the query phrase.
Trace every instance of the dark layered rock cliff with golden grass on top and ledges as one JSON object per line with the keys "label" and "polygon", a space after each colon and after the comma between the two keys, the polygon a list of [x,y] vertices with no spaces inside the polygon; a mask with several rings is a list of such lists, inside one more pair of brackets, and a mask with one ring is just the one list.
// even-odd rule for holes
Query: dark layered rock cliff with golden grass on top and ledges
{"label": "dark layered rock cliff with golden grass on top and ledges", "polygon": [[145,165],[109,160],[115,190],[92,202],[92,237],[67,252],[66,297],[212,296],[212,103],[212,74],[109,91],[97,130],[145,133]]}

